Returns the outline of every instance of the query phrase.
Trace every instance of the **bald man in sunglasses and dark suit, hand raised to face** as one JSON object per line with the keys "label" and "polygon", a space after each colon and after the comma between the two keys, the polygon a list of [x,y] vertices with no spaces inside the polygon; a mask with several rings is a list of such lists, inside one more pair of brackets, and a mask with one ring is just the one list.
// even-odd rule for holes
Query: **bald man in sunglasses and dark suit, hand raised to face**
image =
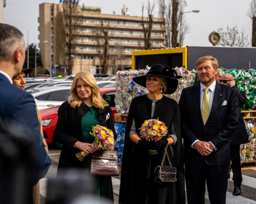
{"label": "bald man in sunglasses and dark suit, hand raised to face", "polygon": [[[233,75],[230,73],[225,73],[220,79],[220,83],[230,86],[237,90],[237,96],[239,101],[239,106],[241,107],[246,103],[246,94],[244,91],[239,90],[235,85]],[[242,183],[242,171],[240,163],[240,144],[245,144],[249,142],[248,134],[244,124],[243,116],[240,111],[239,114],[239,128],[236,134],[232,137],[230,143],[230,159],[231,159],[231,168],[233,171],[233,181],[234,181],[234,196],[241,195],[241,183]]]}

